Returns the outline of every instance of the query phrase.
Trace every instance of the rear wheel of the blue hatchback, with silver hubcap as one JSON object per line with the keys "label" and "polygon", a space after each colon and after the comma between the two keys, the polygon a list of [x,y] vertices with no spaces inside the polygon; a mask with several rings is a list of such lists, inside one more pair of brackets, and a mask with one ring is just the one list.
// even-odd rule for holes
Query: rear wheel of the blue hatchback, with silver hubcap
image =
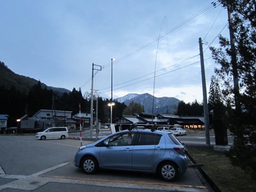
{"label": "rear wheel of the blue hatchback, with silver hubcap", "polygon": [[163,181],[174,181],[178,174],[178,167],[173,162],[163,162],[158,166],[158,175]]}

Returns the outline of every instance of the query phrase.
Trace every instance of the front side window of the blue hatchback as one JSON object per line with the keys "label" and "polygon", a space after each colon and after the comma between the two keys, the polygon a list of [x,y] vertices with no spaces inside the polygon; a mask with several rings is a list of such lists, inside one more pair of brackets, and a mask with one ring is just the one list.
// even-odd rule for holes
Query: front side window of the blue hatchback
{"label": "front side window of the blue hatchback", "polygon": [[109,140],[109,146],[129,146],[133,142],[134,133],[129,132],[125,134],[114,135],[107,138]]}

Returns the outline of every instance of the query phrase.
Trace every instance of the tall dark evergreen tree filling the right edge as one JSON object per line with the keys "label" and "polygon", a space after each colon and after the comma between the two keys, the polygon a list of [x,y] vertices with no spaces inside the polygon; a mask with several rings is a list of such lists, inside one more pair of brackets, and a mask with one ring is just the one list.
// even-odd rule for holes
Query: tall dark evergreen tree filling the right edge
{"label": "tall dark evergreen tree filling the right edge", "polygon": [[215,72],[223,83],[223,100],[229,109],[226,126],[235,135],[230,159],[256,179],[256,3],[220,2],[231,13],[234,43],[220,36],[221,47],[211,47],[211,51],[215,62],[220,64]]}

